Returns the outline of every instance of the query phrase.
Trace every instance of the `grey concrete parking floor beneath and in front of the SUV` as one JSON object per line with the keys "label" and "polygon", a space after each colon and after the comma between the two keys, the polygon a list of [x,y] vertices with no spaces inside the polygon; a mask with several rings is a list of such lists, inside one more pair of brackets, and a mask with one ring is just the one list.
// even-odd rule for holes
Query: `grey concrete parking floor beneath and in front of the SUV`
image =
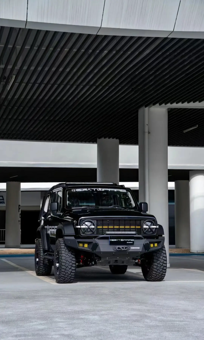
{"label": "grey concrete parking floor beneath and in front of the SUV", "polygon": [[161,283],[137,267],[78,269],[72,285],[33,271],[32,257],[0,259],[1,340],[204,339],[204,257],[171,257]]}

